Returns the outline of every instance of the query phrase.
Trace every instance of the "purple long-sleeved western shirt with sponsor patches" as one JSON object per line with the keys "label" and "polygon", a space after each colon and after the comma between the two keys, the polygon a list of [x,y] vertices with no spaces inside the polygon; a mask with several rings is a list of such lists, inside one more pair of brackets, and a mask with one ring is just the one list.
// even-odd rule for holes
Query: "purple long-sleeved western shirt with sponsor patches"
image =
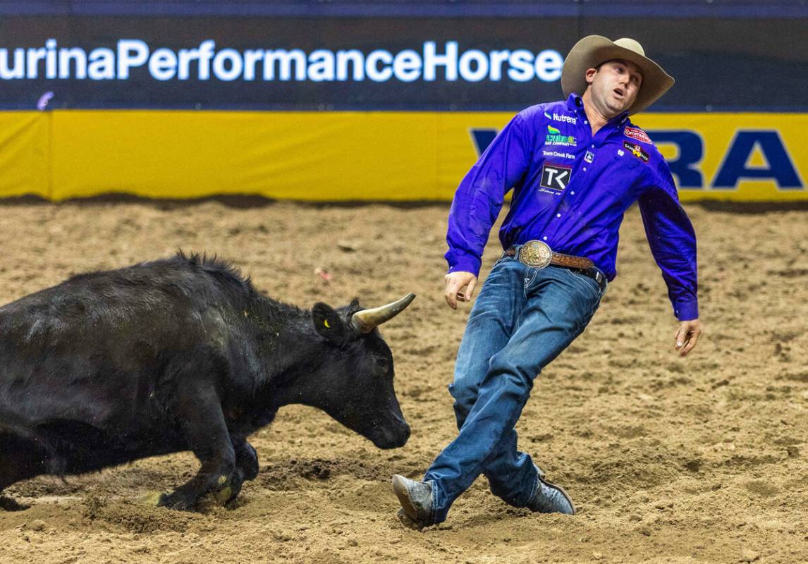
{"label": "purple long-sleeved western shirt with sponsor patches", "polygon": [[503,249],[532,239],[592,259],[613,280],[623,214],[639,203],[646,237],[676,318],[698,318],[696,234],[667,162],[623,114],[594,136],[578,95],[516,114],[457,188],[449,211],[449,271],[478,275],[491,226]]}

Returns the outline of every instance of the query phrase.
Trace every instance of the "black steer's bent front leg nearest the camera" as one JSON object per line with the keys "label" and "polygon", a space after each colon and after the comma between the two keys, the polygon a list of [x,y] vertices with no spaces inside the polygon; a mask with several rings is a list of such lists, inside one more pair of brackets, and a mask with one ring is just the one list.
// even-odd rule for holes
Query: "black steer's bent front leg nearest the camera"
{"label": "black steer's bent front leg nearest the camera", "polygon": [[242,479],[234,474],[236,455],[217,394],[213,389],[190,393],[183,390],[183,400],[177,407],[188,447],[202,465],[191,480],[169,495],[161,495],[158,505],[192,511],[211,491],[217,492],[217,497],[233,499],[241,489]]}

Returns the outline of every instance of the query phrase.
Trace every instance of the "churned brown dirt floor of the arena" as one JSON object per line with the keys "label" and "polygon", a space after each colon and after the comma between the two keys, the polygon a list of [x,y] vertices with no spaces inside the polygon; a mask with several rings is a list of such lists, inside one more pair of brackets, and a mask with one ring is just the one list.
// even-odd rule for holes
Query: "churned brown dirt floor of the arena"
{"label": "churned brown dirt floor of the arena", "polygon": [[446,523],[404,528],[391,475],[419,476],[456,432],[446,385],[468,306],[454,312],[442,296],[447,210],[0,203],[2,303],[179,248],[232,259],[257,288],[305,307],[418,294],[383,328],[412,427],[404,448],[378,450],[322,412],[288,406],[252,437],[260,474],[236,507],[184,513],[141,501],[196,472],[187,453],[36,478],[6,491],[32,507],[0,511],[0,562],[808,562],[806,211],[688,206],[705,335],[683,360],[630,210],[617,280],[541,374],[518,424],[521,447],[579,515],[508,507],[480,478]]}

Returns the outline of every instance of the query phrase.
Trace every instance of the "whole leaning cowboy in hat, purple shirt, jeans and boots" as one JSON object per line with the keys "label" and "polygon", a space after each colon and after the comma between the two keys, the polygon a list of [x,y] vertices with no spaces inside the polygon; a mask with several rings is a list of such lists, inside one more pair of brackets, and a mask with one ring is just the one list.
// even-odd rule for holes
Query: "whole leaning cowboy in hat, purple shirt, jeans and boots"
{"label": "whole leaning cowboy in hat, purple shirt, jeans and boots", "polygon": [[583,331],[616,275],[618,229],[638,202],[685,356],[701,334],[696,235],[667,163],[629,120],[673,84],[635,40],[587,36],[562,69],[566,99],[517,114],[457,188],[448,218],[445,297],[469,301],[503,198],[503,255],[469,314],[454,381],[457,438],[422,481],[393,476],[399,515],[423,527],[485,474],[515,507],[574,514],[570,496],[516,448],[514,426],[533,380]]}

